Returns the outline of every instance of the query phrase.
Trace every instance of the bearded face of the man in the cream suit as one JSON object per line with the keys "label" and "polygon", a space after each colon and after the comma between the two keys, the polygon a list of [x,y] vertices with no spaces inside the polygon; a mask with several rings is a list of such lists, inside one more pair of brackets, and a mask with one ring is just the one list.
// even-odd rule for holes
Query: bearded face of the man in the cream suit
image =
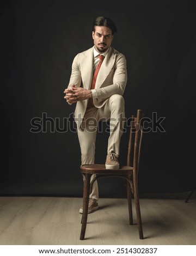
{"label": "bearded face of the man in the cream suit", "polygon": [[95,26],[95,32],[92,32],[94,45],[99,53],[105,52],[112,44],[113,35],[110,28],[105,26]]}

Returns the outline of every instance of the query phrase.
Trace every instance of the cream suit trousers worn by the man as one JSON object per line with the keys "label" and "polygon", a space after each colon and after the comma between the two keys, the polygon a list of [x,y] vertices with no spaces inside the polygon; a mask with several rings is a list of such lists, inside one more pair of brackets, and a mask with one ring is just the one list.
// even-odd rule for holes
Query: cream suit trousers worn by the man
{"label": "cream suit trousers worn by the man", "polygon": [[[81,164],[92,164],[95,161],[95,141],[99,121],[109,121],[107,154],[114,152],[119,155],[120,138],[125,123],[124,97],[119,94],[113,94],[102,108],[87,108],[81,125],[83,130],[77,129],[81,148]],[[91,180],[94,176],[91,176]],[[97,181],[94,182],[90,197],[99,200]]]}

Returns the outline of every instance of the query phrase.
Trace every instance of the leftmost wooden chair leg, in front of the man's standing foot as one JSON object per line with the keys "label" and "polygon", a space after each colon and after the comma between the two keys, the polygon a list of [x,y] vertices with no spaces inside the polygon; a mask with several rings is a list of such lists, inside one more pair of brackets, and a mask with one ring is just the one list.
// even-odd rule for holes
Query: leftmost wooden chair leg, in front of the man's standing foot
{"label": "leftmost wooden chair leg, in front of the man's standing foot", "polygon": [[80,240],[84,240],[85,229],[87,227],[87,217],[88,217],[88,204],[89,204],[89,192],[90,192],[90,176],[91,174],[83,175],[83,212],[82,212],[82,227]]}

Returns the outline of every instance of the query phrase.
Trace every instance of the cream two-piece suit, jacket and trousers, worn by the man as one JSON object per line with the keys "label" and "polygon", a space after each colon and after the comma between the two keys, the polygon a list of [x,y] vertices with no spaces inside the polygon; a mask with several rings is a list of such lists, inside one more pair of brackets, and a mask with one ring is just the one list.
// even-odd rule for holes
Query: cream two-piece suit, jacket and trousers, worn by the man
{"label": "cream two-piece suit, jacket and trousers, worn by the man", "polygon": [[[83,87],[90,90],[93,79],[93,55],[94,46],[88,50],[78,53],[72,63],[72,71],[69,86],[75,84],[75,87]],[[124,112],[124,94],[127,83],[127,69],[125,56],[109,47],[107,55],[103,60],[99,74],[97,75],[95,90],[96,98],[93,99],[94,107],[87,108],[88,100],[78,101],[75,108],[75,121],[77,124],[77,133],[81,147],[81,163],[94,163],[95,160],[95,139],[97,129],[86,130],[83,118],[110,118],[111,131],[108,138],[107,154],[111,151],[119,155],[120,137],[123,130]],[[96,123],[96,122],[95,122]],[[93,177],[92,177],[93,178]],[[98,186],[94,183],[93,191],[90,194],[98,200]]]}

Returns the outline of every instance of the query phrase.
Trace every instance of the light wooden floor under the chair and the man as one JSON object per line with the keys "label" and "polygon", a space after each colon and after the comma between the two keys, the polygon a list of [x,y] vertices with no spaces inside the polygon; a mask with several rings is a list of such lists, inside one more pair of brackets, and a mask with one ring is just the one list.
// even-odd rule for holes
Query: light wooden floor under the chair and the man
{"label": "light wooden floor under the chair and the man", "polygon": [[82,198],[0,197],[0,245],[195,245],[196,202],[142,198],[144,240],[136,215],[128,224],[127,200],[100,198],[79,240]]}

